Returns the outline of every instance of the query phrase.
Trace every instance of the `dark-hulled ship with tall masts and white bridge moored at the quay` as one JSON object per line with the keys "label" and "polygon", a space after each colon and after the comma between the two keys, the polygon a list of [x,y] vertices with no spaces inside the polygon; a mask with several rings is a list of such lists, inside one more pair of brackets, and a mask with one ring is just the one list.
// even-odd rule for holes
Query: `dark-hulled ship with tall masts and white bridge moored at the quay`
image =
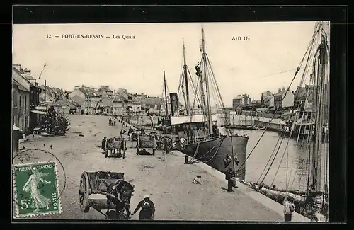
{"label": "dark-hulled ship with tall masts and white bridge moored at the quay", "polygon": [[[202,51],[202,60],[195,66],[199,81],[197,84],[194,84],[185,61],[183,41],[184,65],[181,84],[183,84],[183,87],[185,86],[183,96],[185,96],[186,115],[171,116],[171,125],[173,125],[173,130],[178,137],[183,137],[186,141],[181,151],[183,154],[187,154],[193,158],[188,161],[189,163],[202,161],[222,173],[226,173],[231,168],[234,171],[234,176],[244,180],[246,174],[244,160],[246,158],[246,146],[249,137],[232,134],[229,130],[225,130],[224,127],[217,127],[217,115],[212,115],[211,111],[210,83],[216,86],[217,98],[222,105],[222,111],[225,114],[226,111],[224,110],[224,103],[211,68],[210,59],[205,51],[203,28],[200,51]],[[190,76],[190,81],[194,86],[195,99],[198,98],[198,84],[200,85],[200,100],[198,98],[198,102],[200,103],[201,114],[195,113],[195,100],[193,105],[190,105],[188,76]],[[224,119],[228,119],[226,115],[224,115]],[[228,122],[225,123],[227,124]]]}

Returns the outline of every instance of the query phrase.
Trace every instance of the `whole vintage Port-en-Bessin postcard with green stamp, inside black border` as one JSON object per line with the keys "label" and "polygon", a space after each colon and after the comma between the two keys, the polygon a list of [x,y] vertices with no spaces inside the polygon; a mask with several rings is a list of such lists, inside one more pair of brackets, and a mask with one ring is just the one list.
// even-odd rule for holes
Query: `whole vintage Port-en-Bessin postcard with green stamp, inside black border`
{"label": "whole vintage Port-en-Bessin postcard with green stamp, inside black border", "polygon": [[329,24],[13,25],[14,216],[328,221]]}

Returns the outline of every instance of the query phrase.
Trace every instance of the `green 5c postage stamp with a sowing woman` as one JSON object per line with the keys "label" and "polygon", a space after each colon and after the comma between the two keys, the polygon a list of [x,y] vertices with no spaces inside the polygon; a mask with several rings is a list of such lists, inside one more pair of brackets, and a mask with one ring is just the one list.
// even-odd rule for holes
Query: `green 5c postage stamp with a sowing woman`
{"label": "green 5c postage stamp with a sowing woman", "polygon": [[57,163],[45,161],[13,166],[16,218],[62,212]]}

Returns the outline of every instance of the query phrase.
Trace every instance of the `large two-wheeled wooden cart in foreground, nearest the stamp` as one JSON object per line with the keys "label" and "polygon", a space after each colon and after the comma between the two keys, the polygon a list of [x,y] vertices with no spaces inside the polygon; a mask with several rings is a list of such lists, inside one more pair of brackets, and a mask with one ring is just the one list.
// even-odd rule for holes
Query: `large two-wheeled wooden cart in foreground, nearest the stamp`
{"label": "large two-wheeled wooden cart in foreground, nearest the stamp", "polygon": [[[105,171],[83,172],[81,174],[79,190],[79,202],[81,211],[89,212],[90,207],[93,207],[93,209],[96,209],[96,211],[105,215],[105,217],[108,217],[108,214],[103,213],[102,210],[115,210],[116,206],[112,202],[110,202],[108,207],[107,197],[119,199],[118,197],[115,197],[114,195],[108,192],[108,186],[112,184],[122,183],[123,181],[124,173],[114,173]],[[132,188],[134,188],[134,185],[131,186]],[[126,213],[124,211],[125,210],[123,209],[122,211],[119,211],[115,219],[130,219],[130,211]]]}

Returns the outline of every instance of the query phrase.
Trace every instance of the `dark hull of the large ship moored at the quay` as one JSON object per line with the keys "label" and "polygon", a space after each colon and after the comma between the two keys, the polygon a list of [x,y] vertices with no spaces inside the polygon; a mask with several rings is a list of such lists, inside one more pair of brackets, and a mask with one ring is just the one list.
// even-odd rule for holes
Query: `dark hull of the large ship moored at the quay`
{"label": "dark hull of the large ship moored at the quay", "polygon": [[[244,180],[246,176],[246,163],[244,161],[246,159],[248,141],[249,138],[244,136],[219,137],[217,139],[201,141],[199,147],[198,142],[186,144],[182,152],[188,156],[194,156],[195,159],[206,163],[222,173],[226,173],[228,168],[235,168],[237,172],[236,177]],[[225,161],[227,156],[231,157],[231,161]],[[238,165],[235,159],[239,160]]]}

